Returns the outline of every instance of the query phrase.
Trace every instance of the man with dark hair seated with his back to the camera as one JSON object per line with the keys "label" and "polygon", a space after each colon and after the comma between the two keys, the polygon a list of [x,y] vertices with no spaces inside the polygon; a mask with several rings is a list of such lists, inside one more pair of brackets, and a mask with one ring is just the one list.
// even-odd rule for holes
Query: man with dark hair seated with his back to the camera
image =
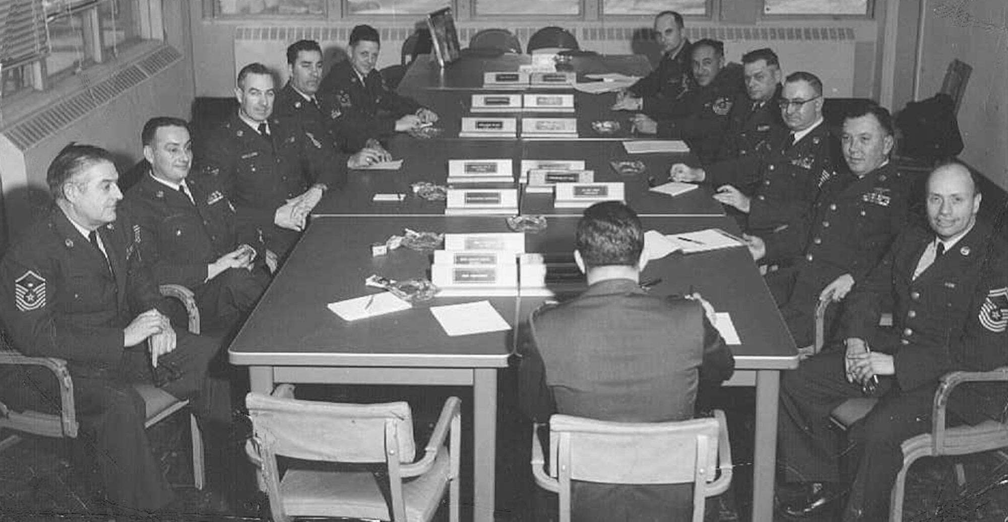
{"label": "man with dark hair seated with his back to the camera", "polygon": [[[530,418],[563,413],[621,422],[694,416],[698,388],[731,377],[735,360],[695,294],[639,286],[644,231],[629,207],[600,203],[578,223],[575,260],[589,288],[536,309],[521,329],[518,400]],[[578,521],[687,520],[689,485],[573,486]]]}

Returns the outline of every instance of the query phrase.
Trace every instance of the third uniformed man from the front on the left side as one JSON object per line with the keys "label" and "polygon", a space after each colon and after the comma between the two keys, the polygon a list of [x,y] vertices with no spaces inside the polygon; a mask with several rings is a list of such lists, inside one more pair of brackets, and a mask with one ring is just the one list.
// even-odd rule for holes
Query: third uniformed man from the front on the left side
{"label": "third uniformed man from the front on the left side", "polygon": [[265,66],[245,66],[237,84],[238,112],[197,149],[197,164],[234,204],[241,235],[262,235],[275,270],[323,193],[346,182],[347,162],[327,136],[272,116],[274,83]]}

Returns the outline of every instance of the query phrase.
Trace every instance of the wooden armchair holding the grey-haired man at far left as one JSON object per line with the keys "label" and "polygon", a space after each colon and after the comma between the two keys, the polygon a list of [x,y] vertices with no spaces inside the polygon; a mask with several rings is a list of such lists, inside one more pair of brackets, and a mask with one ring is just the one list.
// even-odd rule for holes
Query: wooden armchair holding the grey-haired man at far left
{"label": "wooden armchair holding the grey-haired man at far left", "polygon": [[[188,315],[188,331],[199,335],[200,310],[196,306],[193,292],[177,284],[162,284],[160,291],[162,295],[181,301]],[[74,406],[74,381],[67,369],[66,361],[54,357],[25,356],[18,352],[5,339],[5,336],[0,336],[0,365],[45,367],[55,376],[59,389],[58,413],[43,413],[33,410],[14,411],[5,405],[0,398],[0,429],[50,437],[77,437],[79,424]],[[143,397],[147,407],[144,427],[150,427],[188,405],[187,400],[179,400],[153,384],[137,383],[134,387]],[[190,430],[193,440],[193,482],[197,489],[202,490],[206,481],[203,434],[192,413],[190,413]],[[0,450],[16,444],[20,440],[19,434],[12,433],[0,440]]]}

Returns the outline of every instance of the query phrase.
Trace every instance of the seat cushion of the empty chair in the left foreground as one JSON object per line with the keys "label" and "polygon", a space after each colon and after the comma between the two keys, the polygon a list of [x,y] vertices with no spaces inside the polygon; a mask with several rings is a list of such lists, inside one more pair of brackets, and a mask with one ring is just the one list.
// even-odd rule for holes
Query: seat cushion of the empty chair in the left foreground
{"label": "seat cushion of the empty chair in the left foreground", "polygon": [[[445,496],[450,472],[449,452],[442,446],[427,473],[402,481],[408,521],[430,520]],[[280,481],[283,509],[295,517],[391,520],[383,489],[371,473],[289,470]]]}

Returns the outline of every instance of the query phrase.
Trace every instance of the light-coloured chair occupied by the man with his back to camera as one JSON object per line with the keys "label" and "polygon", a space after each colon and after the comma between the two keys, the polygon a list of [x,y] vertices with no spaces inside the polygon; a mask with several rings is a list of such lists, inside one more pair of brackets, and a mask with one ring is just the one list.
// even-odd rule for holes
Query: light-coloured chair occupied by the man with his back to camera
{"label": "light-coloured chair occupied by the man with his back to camera", "polygon": [[[694,522],[704,520],[707,497],[732,482],[732,450],[725,413],[675,422],[608,422],[571,415],[549,417],[549,470],[532,427],[532,476],[559,495],[560,522],[571,521],[571,481],[606,484],[692,484]],[[717,477],[716,477],[717,476]]]}

